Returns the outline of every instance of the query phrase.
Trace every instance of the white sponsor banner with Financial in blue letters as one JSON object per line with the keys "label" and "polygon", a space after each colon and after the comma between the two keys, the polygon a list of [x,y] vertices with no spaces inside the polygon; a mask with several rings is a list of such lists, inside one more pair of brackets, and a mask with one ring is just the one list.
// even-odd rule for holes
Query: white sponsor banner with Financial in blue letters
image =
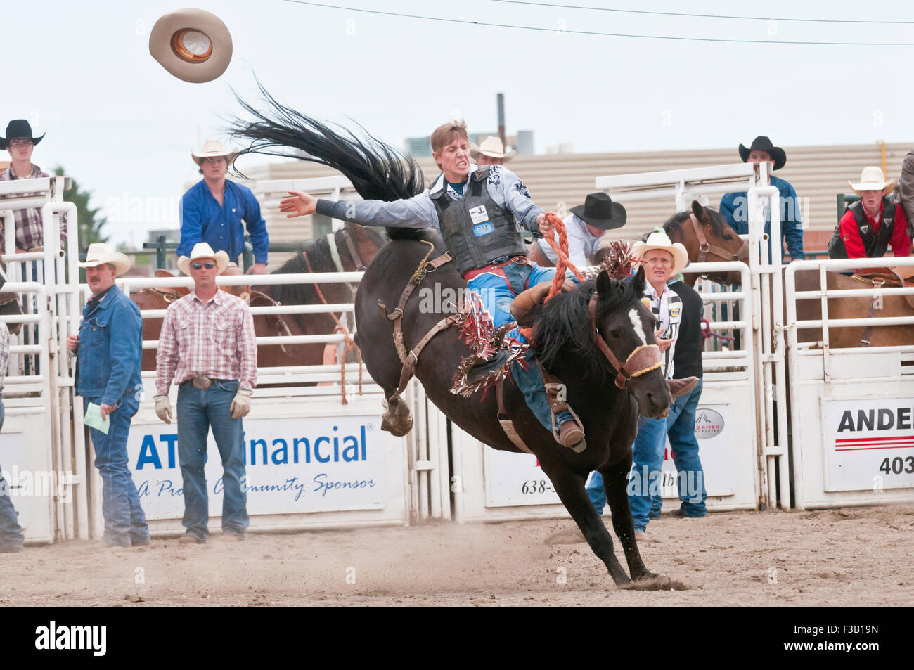
{"label": "white sponsor banner with Financial in blue letters", "polygon": [[[245,419],[251,515],[382,509],[383,434],[377,416]],[[133,425],[127,441],[133,481],[150,519],[181,518],[184,498],[175,424]],[[222,513],[222,464],[207,444],[210,516]]]}

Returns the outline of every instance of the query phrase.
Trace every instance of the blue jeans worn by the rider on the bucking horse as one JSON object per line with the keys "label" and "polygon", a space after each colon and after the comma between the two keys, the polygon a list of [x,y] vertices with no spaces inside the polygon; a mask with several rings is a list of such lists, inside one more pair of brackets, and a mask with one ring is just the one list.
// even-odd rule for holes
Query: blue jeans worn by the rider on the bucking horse
{"label": "blue jeans worn by the rider on the bucking horse", "polygon": [[[556,276],[555,268],[541,268],[532,262],[525,265],[508,263],[502,268],[502,271],[505,273],[504,277],[494,272],[486,272],[473,277],[468,282],[469,288],[482,297],[485,309],[492,316],[495,327],[514,321],[514,317],[511,316],[511,302],[518,293],[524,292],[538,283],[551,282]],[[521,335],[516,329],[508,335],[516,337],[521,342],[526,342],[524,335]],[[520,388],[524,394],[527,407],[547,431],[552,431],[552,413],[549,410],[543,375],[532,351],[527,353],[524,360],[526,369],[518,362],[511,364],[511,376],[514,378],[517,388]],[[570,420],[569,412],[559,412],[556,417],[556,428],[558,429],[565,421]]]}

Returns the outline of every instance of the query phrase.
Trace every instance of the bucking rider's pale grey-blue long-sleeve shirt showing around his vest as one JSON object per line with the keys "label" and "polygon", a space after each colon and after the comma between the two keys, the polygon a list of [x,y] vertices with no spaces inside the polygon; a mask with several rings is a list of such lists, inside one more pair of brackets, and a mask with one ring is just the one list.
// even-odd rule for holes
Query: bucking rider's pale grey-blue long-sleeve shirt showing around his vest
{"label": "bucking rider's pale grey-blue long-sleeve shirt showing around his vest", "polygon": [[[470,171],[470,175],[473,170]],[[464,182],[463,190],[470,181],[470,175]],[[331,218],[354,221],[363,226],[384,226],[388,228],[434,228],[441,230],[438,221],[438,209],[429,197],[441,188],[448,189],[448,195],[455,200],[462,199],[450,184],[446,184],[444,175],[439,175],[435,183],[418,196],[385,202],[383,200],[339,201],[319,199],[317,212]],[[509,209],[516,221],[540,238],[537,217],[543,213],[530,199],[530,193],[520,177],[505,168],[504,165],[493,165],[489,170],[486,189],[497,205]]]}

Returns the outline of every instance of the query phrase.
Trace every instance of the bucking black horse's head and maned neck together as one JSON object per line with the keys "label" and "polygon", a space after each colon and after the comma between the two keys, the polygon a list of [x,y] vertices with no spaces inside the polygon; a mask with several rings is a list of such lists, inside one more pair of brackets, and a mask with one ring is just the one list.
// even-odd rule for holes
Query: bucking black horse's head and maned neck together
{"label": "bucking black horse's head and maned neck together", "polygon": [[657,419],[673,399],[658,365],[655,319],[641,302],[643,292],[642,269],[631,282],[602,271],[596,284],[558,293],[537,308],[533,340],[539,361],[559,378],[615,383],[634,395],[643,416]]}

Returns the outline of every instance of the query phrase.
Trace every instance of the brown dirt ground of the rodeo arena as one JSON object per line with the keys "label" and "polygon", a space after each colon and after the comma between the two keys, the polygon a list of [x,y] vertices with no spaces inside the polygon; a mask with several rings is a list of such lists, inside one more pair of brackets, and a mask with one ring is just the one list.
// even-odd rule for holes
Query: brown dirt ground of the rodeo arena
{"label": "brown dirt ground of the rodeo arena", "polygon": [[[914,605],[914,504],[664,516],[616,589],[570,520],[71,541],[0,555],[3,605]],[[616,543],[618,547],[618,542]]]}

